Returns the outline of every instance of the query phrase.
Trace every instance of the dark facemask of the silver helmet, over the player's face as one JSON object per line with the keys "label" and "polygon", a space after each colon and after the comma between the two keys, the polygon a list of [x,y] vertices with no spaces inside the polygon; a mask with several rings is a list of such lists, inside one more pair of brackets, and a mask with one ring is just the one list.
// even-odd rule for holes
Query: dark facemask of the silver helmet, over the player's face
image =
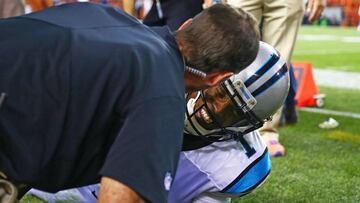
{"label": "dark facemask of the silver helmet, over the player's face", "polygon": [[[256,99],[241,80],[235,83],[231,79],[221,82],[215,91],[220,93],[216,95],[207,94],[207,91],[212,91],[211,89],[187,95],[186,133],[200,136],[211,142],[219,142],[242,138],[243,135],[264,124],[264,121],[252,111],[257,103]],[[225,96],[220,98],[217,95]],[[224,113],[219,116],[221,112],[214,112],[215,107],[211,105],[215,100],[224,100],[224,98],[227,101],[224,109],[228,110],[231,122],[224,117]]]}

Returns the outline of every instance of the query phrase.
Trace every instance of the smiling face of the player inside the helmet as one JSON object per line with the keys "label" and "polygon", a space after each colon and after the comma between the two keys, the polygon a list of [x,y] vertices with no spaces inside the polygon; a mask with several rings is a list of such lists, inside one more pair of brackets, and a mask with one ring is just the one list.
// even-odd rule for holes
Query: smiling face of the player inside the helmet
{"label": "smiling face of the player inside the helmet", "polygon": [[[190,98],[195,98],[196,95],[197,93],[192,93]],[[194,107],[194,109],[198,109],[202,106],[201,110],[195,114],[195,118],[203,128],[208,130],[219,128],[211,115],[215,116],[223,127],[232,126],[240,120],[241,117],[233,102],[220,85],[204,90],[204,98],[211,112],[202,106],[204,103],[202,99],[198,99]]]}

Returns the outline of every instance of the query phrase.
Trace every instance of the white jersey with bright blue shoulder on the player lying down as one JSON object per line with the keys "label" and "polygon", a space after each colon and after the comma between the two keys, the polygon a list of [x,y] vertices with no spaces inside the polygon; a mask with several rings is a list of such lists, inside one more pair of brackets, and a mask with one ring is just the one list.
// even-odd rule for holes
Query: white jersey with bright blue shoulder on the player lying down
{"label": "white jersey with bright blue shoulder on the player lying down", "polygon": [[[270,157],[258,131],[241,141],[217,142],[200,149],[181,152],[169,203],[220,203],[249,193],[270,173]],[[146,170],[146,169],[144,169]],[[31,190],[46,201],[96,202],[99,185],[56,194]],[[75,200],[75,201],[74,201]]]}

